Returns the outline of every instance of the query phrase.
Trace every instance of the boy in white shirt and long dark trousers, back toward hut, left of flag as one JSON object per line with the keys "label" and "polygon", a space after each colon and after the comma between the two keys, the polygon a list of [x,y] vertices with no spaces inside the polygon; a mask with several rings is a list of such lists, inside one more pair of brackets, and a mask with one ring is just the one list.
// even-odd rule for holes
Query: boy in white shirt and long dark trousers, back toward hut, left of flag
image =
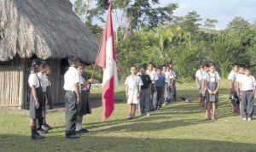
{"label": "boy in white shirt and long dark trousers, back toward hut, left of flag", "polygon": [[77,105],[80,104],[79,93],[79,59],[73,55],[68,57],[69,69],[64,75],[65,104],[66,104],[66,138],[79,138],[75,132],[77,121]]}

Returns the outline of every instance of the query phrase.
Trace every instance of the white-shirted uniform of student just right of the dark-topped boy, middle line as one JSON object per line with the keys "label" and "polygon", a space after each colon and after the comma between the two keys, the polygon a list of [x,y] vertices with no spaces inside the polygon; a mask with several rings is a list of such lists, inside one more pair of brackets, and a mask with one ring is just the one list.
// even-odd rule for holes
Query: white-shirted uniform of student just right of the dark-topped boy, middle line
{"label": "white-shirted uniform of student just right of the dark-topped boy, middle line", "polygon": [[151,79],[151,84],[150,84],[150,88],[149,88],[149,92],[150,92],[150,99],[149,99],[149,104],[150,104],[150,110],[155,110],[155,107],[154,107],[154,103],[156,103],[157,101],[157,93],[156,93],[156,88],[154,86],[154,82],[158,79],[157,75],[156,75],[156,72],[155,71],[149,71],[149,70],[146,70],[146,74],[148,76],[150,76],[150,79]]}

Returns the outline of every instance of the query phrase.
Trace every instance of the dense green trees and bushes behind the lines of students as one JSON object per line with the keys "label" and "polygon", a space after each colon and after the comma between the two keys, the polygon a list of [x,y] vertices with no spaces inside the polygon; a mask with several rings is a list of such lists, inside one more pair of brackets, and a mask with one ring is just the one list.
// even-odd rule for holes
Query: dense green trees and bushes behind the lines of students
{"label": "dense green trees and bushes behind the lines of students", "polygon": [[[214,29],[218,20],[207,19],[201,25],[201,16],[195,11],[183,17],[172,16],[177,4],[160,8],[154,7],[157,0],[153,3],[148,0],[124,2],[113,3],[114,9],[124,8],[122,10],[128,20],[128,26],[120,25],[116,33],[116,36],[122,37],[116,41],[121,79],[128,75],[131,65],[139,66],[148,62],[154,65],[172,63],[178,76],[186,80],[193,79],[195,70],[203,61],[214,62],[223,77],[228,75],[235,62],[256,64],[256,26],[241,17],[231,20],[226,29],[217,31]],[[88,15],[90,20],[86,25],[93,25],[91,19],[101,16],[108,8],[103,3],[106,2],[97,1],[96,7],[88,10],[93,14]],[[82,5],[76,5],[76,8],[79,6]],[[95,29],[91,28],[99,35],[100,30]],[[126,37],[127,31],[129,37]]]}

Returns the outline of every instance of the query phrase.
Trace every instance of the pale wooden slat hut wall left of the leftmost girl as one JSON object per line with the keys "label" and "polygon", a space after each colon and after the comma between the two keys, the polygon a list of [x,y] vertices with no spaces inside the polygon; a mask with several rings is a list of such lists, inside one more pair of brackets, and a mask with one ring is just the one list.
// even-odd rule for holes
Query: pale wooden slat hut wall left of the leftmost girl
{"label": "pale wooden slat hut wall left of the leftmost girl", "polygon": [[22,64],[0,65],[0,109],[24,107],[24,68]]}

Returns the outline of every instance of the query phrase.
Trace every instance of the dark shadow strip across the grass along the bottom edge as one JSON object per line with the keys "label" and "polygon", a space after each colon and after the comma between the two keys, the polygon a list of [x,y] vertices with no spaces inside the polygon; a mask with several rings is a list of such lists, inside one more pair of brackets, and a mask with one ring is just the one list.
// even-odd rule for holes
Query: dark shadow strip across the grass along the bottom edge
{"label": "dark shadow strip across the grass along the bottom edge", "polygon": [[32,141],[28,136],[1,135],[0,151],[255,151],[256,144],[189,138],[131,138],[95,136],[79,139],[48,136]]}

